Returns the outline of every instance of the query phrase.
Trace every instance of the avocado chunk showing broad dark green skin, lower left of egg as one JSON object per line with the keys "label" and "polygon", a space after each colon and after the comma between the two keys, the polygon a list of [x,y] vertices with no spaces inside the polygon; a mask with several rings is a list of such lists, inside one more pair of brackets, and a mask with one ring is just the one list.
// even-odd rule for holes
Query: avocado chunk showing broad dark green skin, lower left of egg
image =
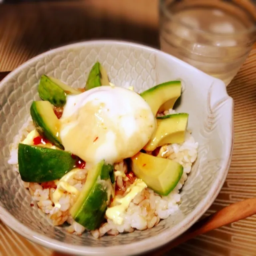
{"label": "avocado chunk showing broad dark green skin, lower left of egg", "polygon": [[26,182],[46,182],[60,179],[75,168],[79,158],[69,152],[20,143],[18,165],[20,177]]}

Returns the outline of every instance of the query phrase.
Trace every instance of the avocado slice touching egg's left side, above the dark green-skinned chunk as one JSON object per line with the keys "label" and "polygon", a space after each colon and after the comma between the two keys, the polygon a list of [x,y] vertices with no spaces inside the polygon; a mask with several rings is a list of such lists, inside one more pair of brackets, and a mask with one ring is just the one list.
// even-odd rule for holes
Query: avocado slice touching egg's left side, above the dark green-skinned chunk
{"label": "avocado slice touching egg's left side, above the dark green-skinned chunk", "polygon": [[56,147],[64,149],[60,139],[60,120],[54,114],[49,101],[33,101],[30,115],[38,133]]}

